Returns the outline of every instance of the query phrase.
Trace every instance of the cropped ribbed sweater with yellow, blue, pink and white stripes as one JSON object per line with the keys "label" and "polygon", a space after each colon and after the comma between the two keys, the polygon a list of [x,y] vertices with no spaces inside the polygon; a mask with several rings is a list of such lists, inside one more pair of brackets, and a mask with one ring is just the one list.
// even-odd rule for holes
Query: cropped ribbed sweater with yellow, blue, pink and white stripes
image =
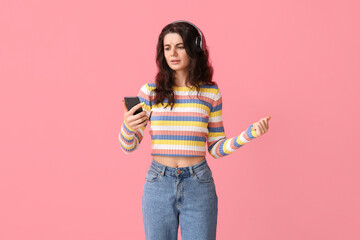
{"label": "cropped ribbed sweater with yellow, blue, pink and white stripes", "polygon": [[[149,121],[137,130],[131,129],[123,121],[119,141],[125,153],[139,148],[144,131],[150,123],[151,155],[163,156],[205,156],[207,150],[214,158],[229,155],[253,138],[255,131],[251,124],[240,135],[226,138],[222,120],[222,97],[218,86],[200,85],[199,99],[195,87],[174,86],[175,105],[154,105],[155,83],[144,84],[138,98],[143,102]],[[151,104],[150,104],[151,102]]]}

